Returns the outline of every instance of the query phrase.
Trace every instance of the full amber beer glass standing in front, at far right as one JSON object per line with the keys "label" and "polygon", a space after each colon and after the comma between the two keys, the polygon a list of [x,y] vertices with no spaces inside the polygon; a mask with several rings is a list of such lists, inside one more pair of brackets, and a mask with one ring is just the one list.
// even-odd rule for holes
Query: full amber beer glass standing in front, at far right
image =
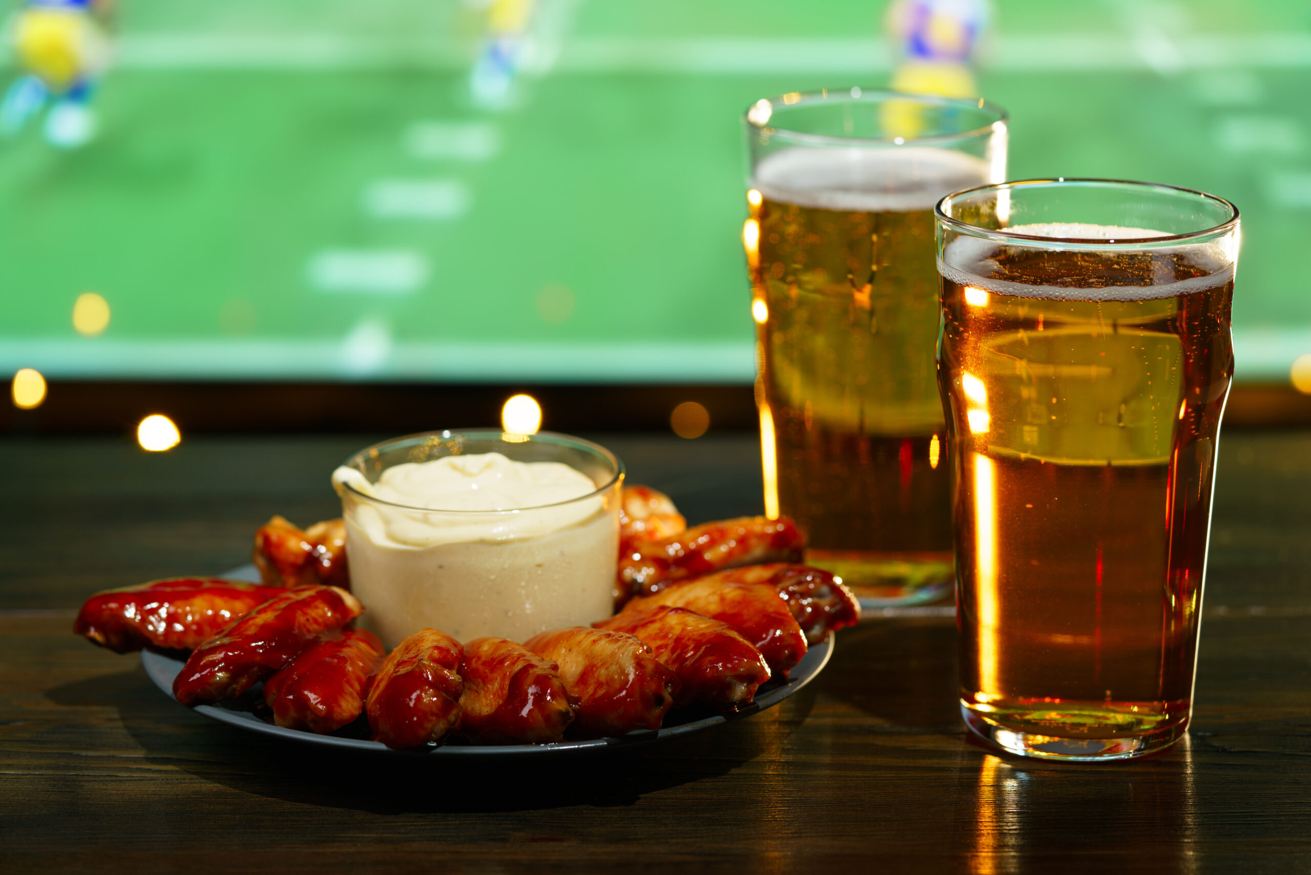
{"label": "full amber beer glass standing in front, at far right", "polygon": [[1188,728],[1239,218],[1145,182],[937,205],[961,712],[1030,757]]}

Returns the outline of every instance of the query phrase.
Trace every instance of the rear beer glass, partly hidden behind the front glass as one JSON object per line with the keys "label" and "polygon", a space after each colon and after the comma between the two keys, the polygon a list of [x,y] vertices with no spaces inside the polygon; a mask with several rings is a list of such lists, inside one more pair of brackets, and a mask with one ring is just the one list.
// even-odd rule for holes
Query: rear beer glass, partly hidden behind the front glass
{"label": "rear beer glass, partly hidden behind the front glass", "polygon": [[932,598],[952,580],[932,211],[1006,177],[1006,113],[852,88],[745,125],[766,513],[864,605]]}

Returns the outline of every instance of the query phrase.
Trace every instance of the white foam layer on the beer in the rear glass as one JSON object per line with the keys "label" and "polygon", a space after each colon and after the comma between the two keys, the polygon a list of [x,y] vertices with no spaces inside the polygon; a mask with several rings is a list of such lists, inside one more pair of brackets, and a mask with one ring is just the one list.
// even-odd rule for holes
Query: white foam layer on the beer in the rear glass
{"label": "white foam layer on the beer in the rear glass", "polygon": [[755,168],[771,201],[825,210],[932,210],[944,195],[988,181],[988,163],[927,146],[780,150]]}

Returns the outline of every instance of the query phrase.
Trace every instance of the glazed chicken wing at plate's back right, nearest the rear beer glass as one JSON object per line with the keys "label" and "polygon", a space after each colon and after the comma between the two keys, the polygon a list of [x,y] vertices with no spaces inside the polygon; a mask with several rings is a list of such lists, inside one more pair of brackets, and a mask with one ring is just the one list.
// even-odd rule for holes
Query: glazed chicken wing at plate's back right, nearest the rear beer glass
{"label": "glazed chicken wing at plate's back right, nearest the rear beer glass", "polygon": [[800,561],[805,535],[788,517],[742,517],[638,542],[619,558],[619,592],[649,596],[666,581],[762,561]]}

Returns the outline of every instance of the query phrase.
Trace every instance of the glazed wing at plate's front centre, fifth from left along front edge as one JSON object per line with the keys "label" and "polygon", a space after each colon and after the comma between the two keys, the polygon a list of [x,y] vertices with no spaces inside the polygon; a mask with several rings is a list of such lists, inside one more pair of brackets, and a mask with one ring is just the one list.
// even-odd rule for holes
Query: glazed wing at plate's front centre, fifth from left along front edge
{"label": "glazed wing at plate's front centre, fifth from left along front edge", "polygon": [[503,638],[464,645],[460,735],[473,744],[560,741],[574,703],[555,662]]}

